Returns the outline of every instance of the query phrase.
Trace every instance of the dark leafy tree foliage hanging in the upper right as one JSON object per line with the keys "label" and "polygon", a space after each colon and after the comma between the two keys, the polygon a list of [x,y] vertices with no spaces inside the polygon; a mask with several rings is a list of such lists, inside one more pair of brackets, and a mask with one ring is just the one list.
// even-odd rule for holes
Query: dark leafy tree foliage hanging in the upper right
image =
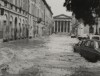
{"label": "dark leafy tree foliage hanging in the upper right", "polygon": [[65,0],[64,6],[75,14],[76,19],[82,19],[84,24],[93,25],[93,13],[100,16],[100,0]]}

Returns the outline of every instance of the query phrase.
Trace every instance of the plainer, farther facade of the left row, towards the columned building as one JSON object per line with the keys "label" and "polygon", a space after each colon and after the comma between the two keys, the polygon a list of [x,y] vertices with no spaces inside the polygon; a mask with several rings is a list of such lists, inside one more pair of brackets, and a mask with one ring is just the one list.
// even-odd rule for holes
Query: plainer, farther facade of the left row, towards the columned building
{"label": "plainer, farther facade of the left row, towards the columned building", "polygon": [[[30,0],[30,37],[44,36],[48,32],[48,26],[52,24],[52,11],[45,0]],[[49,18],[49,19],[47,19]],[[37,23],[41,19],[40,23]],[[46,23],[49,22],[49,23]],[[47,28],[48,27],[48,28]]]}

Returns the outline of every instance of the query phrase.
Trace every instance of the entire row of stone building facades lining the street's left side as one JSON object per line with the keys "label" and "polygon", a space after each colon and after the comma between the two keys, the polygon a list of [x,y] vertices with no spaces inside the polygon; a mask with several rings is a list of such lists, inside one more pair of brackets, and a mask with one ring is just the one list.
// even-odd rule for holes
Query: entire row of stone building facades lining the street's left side
{"label": "entire row of stone building facades lining the street's left side", "polygon": [[[46,16],[50,17],[48,22],[52,22],[52,15],[45,0],[0,0],[0,39],[10,41],[33,38],[40,30],[43,34]],[[38,19],[41,19],[39,26]]]}

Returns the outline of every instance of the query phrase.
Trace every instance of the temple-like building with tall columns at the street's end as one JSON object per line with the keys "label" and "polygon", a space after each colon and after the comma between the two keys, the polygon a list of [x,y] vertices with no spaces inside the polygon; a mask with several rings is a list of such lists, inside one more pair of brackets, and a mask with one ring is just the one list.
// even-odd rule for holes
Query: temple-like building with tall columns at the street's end
{"label": "temple-like building with tall columns at the street's end", "polygon": [[64,14],[54,16],[54,27],[52,32],[53,33],[70,33],[71,32],[71,20],[72,18],[69,16],[66,16]]}

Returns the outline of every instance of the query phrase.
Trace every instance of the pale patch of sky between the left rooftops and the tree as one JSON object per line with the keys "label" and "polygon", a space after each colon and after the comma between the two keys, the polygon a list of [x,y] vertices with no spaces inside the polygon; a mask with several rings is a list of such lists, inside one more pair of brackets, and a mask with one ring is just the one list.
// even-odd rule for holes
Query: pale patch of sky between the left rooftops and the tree
{"label": "pale patch of sky between the left rooftops and the tree", "polygon": [[63,3],[65,0],[46,0],[46,1],[51,7],[51,10],[54,16],[57,16],[60,14],[71,16],[71,13],[66,11],[66,8],[63,7]]}

